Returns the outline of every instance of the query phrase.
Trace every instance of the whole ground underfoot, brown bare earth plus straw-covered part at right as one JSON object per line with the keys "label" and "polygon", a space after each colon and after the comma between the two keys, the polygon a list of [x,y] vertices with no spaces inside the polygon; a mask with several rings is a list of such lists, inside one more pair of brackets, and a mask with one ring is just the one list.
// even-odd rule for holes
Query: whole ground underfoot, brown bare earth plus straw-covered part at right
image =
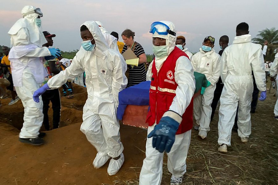
{"label": "whole ground underfoot, brown bare earth plus straw-covered part at right", "polygon": [[[95,169],[92,162],[96,150],[79,131],[86,90],[75,85],[74,92],[73,99],[61,98],[61,128],[47,131],[42,146],[30,146],[18,141],[18,129],[23,123],[23,106],[20,101],[8,106],[11,98],[1,100],[0,185],[138,184],[145,157],[146,131],[121,125],[125,156],[123,167],[114,176],[107,175],[108,163]],[[278,121],[273,119],[276,97],[272,93],[267,93],[267,100],[259,102],[256,113],[252,114],[249,142],[240,142],[237,134],[233,133],[232,146],[227,154],[217,151],[218,112],[211,122],[207,139],[201,140],[197,137],[198,132],[192,130],[183,185],[278,184]],[[52,114],[50,109],[50,117]],[[171,174],[166,166],[165,157],[162,185],[170,184]]]}

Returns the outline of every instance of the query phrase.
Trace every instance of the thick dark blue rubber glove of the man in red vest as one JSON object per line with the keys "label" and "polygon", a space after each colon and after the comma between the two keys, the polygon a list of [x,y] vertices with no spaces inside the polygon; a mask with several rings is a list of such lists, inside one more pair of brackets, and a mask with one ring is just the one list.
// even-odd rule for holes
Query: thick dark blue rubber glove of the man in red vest
{"label": "thick dark blue rubber glove of the man in red vest", "polygon": [[[153,137],[153,147],[160,153],[163,153],[164,150],[169,153],[175,142],[175,136],[179,128],[179,122],[172,117],[178,117],[180,122],[182,120],[182,117],[173,111],[167,111],[166,113],[168,115],[164,116],[164,114],[160,119],[159,124],[155,125],[154,130],[148,135],[148,138]],[[173,115],[172,117],[170,117],[171,114]]]}

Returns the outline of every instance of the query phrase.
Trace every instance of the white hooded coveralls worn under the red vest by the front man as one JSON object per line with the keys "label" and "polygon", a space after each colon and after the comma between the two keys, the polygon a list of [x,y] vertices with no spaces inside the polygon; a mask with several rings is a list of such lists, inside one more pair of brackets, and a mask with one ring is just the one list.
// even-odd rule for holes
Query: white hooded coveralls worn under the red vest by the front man
{"label": "white hooded coveralls worn under the red vest by the front man", "polygon": [[[160,21],[168,25],[171,31],[176,32],[175,25],[168,21]],[[175,47],[176,37],[172,35],[158,35],[156,32],[153,37],[166,39],[167,56],[162,58],[155,58],[156,69],[162,67],[163,62]],[[147,72],[147,80],[151,79],[153,62],[149,66]],[[193,68],[186,56],[181,56],[176,61],[175,67],[175,81],[178,84],[176,89],[176,96],[169,110],[172,110],[179,115],[183,115],[185,109],[190,104],[195,91],[195,78],[193,75]],[[148,127],[148,134],[154,130],[153,126]],[[186,172],[186,158],[190,145],[191,130],[175,136],[175,142],[171,151],[167,153],[168,156],[168,170],[171,174],[181,177]],[[143,166],[140,173],[140,185],[160,185],[162,179],[162,165],[163,153],[152,146],[153,138],[147,138],[146,142],[146,158],[143,161]]]}

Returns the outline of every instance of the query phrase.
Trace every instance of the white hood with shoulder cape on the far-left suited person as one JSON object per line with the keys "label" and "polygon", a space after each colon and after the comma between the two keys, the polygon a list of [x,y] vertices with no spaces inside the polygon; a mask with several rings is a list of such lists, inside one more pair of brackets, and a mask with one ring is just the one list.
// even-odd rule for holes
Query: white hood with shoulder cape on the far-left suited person
{"label": "white hood with shoulder cape on the far-left suited person", "polygon": [[[26,14],[27,12],[30,12],[31,10],[35,9],[35,6],[24,6],[21,10],[21,14]],[[8,34],[15,35],[21,28],[27,28],[27,30],[29,31],[30,42],[38,47],[42,47],[42,45],[47,43],[47,41],[44,37],[44,34],[40,30],[40,27],[36,25],[35,20],[38,16],[39,14],[32,13],[26,15],[24,18],[17,20],[15,24],[11,27],[11,29],[8,31]]]}

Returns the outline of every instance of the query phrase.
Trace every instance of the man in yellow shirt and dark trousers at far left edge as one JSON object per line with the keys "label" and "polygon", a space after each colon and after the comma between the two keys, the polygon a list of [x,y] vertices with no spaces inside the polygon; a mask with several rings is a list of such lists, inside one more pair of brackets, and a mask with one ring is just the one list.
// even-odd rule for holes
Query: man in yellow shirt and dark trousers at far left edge
{"label": "man in yellow shirt and dark trousers at far left edge", "polygon": [[2,51],[5,54],[5,56],[3,56],[3,58],[2,58],[1,64],[4,64],[3,67],[7,67],[10,72],[10,74],[6,74],[6,76],[8,76],[7,80],[9,80],[9,82],[11,83],[7,87],[7,89],[11,91],[11,95],[12,95],[12,100],[10,101],[10,103],[8,105],[13,105],[19,101],[19,97],[17,96],[15,89],[14,89],[13,79],[12,79],[12,75],[11,75],[11,62],[10,62],[10,60],[8,60],[10,49],[7,46],[3,46]]}

